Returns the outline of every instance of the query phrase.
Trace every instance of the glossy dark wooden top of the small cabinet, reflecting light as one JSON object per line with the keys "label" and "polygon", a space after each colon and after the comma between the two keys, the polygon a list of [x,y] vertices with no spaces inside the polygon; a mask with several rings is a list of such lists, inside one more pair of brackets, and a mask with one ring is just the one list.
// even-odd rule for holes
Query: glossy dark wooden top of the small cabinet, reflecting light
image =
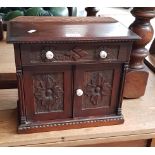
{"label": "glossy dark wooden top of the small cabinet, reflecting light", "polygon": [[113,41],[140,39],[109,17],[21,16],[8,23],[8,42]]}

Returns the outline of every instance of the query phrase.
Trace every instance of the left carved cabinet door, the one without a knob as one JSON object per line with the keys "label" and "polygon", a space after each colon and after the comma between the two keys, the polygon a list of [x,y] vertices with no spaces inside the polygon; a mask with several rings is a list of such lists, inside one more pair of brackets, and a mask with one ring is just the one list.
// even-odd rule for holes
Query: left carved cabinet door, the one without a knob
{"label": "left carved cabinet door, the one without a knob", "polygon": [[23,75],[29,121],[71,117],[71,67],[25,67]]}

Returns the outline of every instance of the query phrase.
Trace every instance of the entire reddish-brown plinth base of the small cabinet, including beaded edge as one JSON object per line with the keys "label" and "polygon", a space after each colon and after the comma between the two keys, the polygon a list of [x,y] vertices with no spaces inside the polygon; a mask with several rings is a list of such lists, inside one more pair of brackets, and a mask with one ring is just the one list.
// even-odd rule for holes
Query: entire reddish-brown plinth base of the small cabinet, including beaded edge
{"label": "entire reddish-brown plinth base of the small cabinet, including beaded edge", "polygon": [[66,130],[77,128],[97,127],[104,125],[122,124],[124,118],[120,116],[80,118],[66,121],[27,122],[18,126],[18,133],[34,133],[42,131]]}

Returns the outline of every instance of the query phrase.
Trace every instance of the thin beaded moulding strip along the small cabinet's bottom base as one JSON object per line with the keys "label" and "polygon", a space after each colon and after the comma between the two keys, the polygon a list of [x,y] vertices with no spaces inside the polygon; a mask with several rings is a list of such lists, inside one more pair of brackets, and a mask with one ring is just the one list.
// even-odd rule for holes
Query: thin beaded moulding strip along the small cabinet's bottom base
{"label": "thin beaded moulding strip along the small cabinet's bottom base", "polygon": [[[32,126],[20,126],[19,130],[27,130],[27,129],[37,129],[37,128],[46,128],[46,127],[57,127],[57,126],[68,126],[68,125],[77,125],[77,124],[87,124],[87,123],[95,123],[95,122],[110,122],[110,121],[119,121],[124,120],[123,116],[118,116],[117,118],[105,118],[105,119],[95,119],[95,120],[83,120],[83,121],[72,121],[72,122],[62,122],[62,123],[49,123],[43,125],[32,125]],[[27,125],[27,124],[26,124]]]}

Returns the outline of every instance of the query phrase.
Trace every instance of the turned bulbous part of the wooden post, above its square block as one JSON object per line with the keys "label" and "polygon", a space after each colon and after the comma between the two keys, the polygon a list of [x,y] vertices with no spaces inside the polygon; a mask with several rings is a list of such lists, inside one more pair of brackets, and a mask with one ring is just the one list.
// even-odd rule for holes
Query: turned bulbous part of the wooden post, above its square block
{"label": "turned bulbous part of the wooden post, above its square block", "polygon": [[144,58],[148,54],[145,46],[153,37],[153,27],[150,20],[155,17],[155,8],[133,8],[131,14],[135,21],[130,25],[130,29],[141,37],[141,40],[133,44],[129,66],[133,69],[144,68]]}

